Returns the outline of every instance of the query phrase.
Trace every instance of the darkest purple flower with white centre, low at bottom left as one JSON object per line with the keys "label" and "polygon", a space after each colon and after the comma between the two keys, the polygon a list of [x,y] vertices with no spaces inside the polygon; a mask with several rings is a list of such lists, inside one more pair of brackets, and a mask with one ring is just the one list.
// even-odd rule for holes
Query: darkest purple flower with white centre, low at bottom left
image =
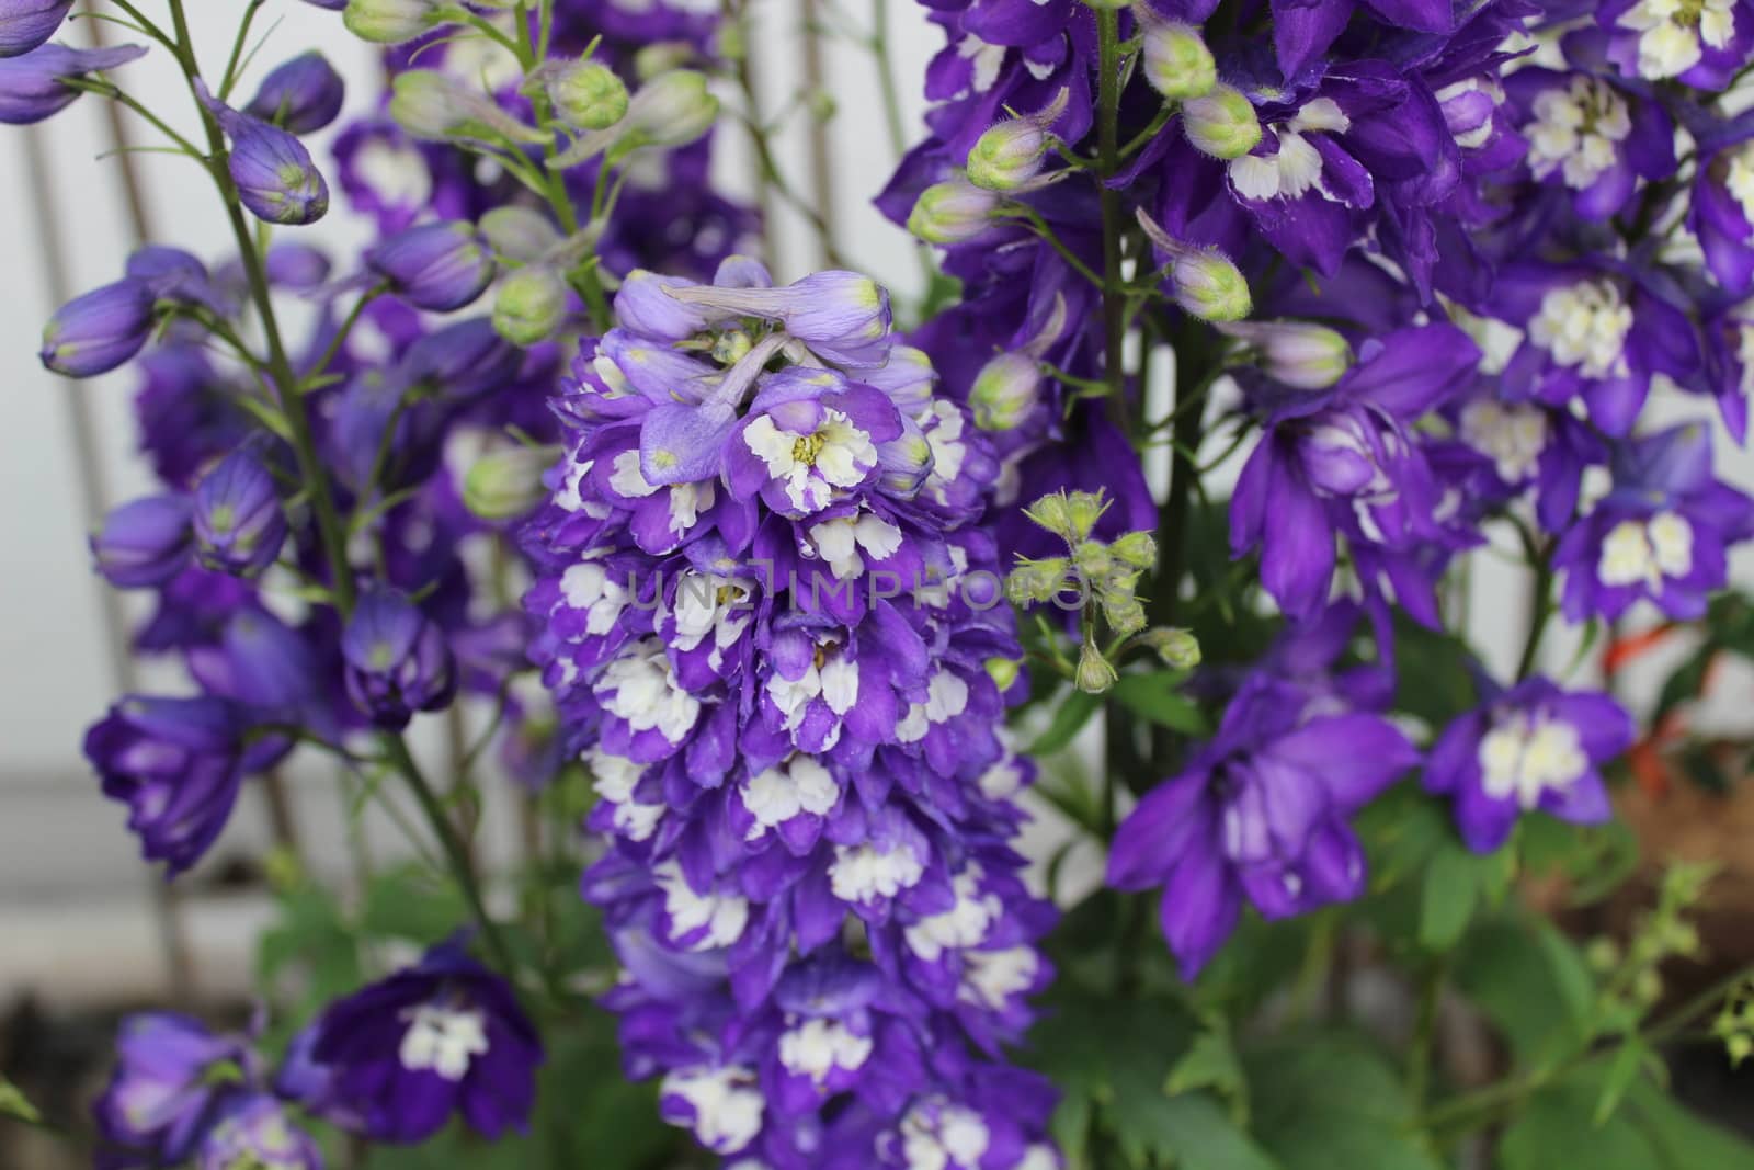
{"label": "darkest purple flower with white centre, low at bottom left", "polygon": [[444,944],[328,1005],[310,1059],[326,1072],[312,1107],[372,1138],[423,1142],[454,1112],[493,1138],[528,1121],[542,1044],[510,986]]}

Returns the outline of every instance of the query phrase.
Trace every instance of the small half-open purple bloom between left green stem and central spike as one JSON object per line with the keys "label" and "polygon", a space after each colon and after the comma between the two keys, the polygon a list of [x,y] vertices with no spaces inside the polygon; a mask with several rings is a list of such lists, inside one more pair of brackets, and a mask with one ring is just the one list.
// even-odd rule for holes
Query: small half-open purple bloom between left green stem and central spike
{"label": "small half-open purple bloom between left green stem and central spike", "polygon": [[456,695],[444,630],[393,589],[360,598],[340,651],[353,705],[382,728],[403,728],[416,710],[440,710]]}

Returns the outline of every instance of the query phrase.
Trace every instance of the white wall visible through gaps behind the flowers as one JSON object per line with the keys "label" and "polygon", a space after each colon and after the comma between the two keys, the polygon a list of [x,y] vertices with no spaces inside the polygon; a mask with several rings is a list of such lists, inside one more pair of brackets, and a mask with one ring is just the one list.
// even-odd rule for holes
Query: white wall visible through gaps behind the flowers
{"label": "white wall visible through gaps behind the flowers", "polygon": [[[156,9],[147,0],[147,9]],[[240,5],[203,0],[193,5],[196,35],[210,68],[223,63],[232,18]],[[766,111],[786,107],[800,89],[800,0],[759,0],[751,37],[756,77]],[[891,0],[895,67],[910,135],[923,100],[921,77],[942,42],[923,9]],[[349,111],[360,111],[375,91],[375,58],[347,37],[333,12],[298,0],[275,0],[260,28],[281,21],[270,46],[256,58],[247,93],[274,63],[310,46],[323,47],[349,82]],[[872,12],[844,16],[868,28]],[[118,30],[107,30],[114,40]],[[91,28],[74,25],[63,37],[88,44]],[[163,54],[121,70],[119,79],[147,105],[179,128],[191,128],[189,98]],[[842,247],[854,267],[891,282],[917,286],[912,242],[884,221],[868,200],[893,167],[881,114],[875,68],[865,51],[844,40],[828,46],[826,75],[837,95],[830,139],[833,144],[835,219]],[[172,116],[174,112],[174,116]],[[130,119],[132,121],[132,119]],[[809,191],[803,118],[793,118],[782,139],[788,179]],[[137,142],[149,132],[132,121]],[[61,295],[116,279],[130,249],[118,165],[100,158],[111,149],[105,107],[82,98],[56,119],[28,132],[0,133],[0,996],[35,986],[51,996],[100,995],[118,984],[151,989],[163,986],[167,968],[154,940],[149,910],[156,879],[135,856],[123,828],[123,810],[103,802],[79,756],[82,730],[118,691],[116,663],[103,621],[103,593],[91,575],[84,530],[88,505],[82,474],[95,472],[105,502],[149,488],[135,456],[128,396],[132,377],[82,384],[46,374],[35,360],[42,321]],[[751,189],[747,142],[731,128],[721,135],[721,184],[733,193]],[[328,158],[326,137],[316,144]],[[214,193],[181,158],[137,154],[156,237],[207,258],[226,251],[225,225]],[[42,188],[46,202],[33,198]],[[795,214],[779,219],[781,277],[816,267],[810,235]],[[363,237],[337,209],[309,239],[346,251]],[[89,414],[93,447],[82,461],[75,442],[75,412]],[[1694,410],[1696,412],[1696,410]],[[1754,481],[1743,453],[1724,453],[1726,470],[1738,482]],[[1733,458],[1731,458],[1733,456]],[[1479,558],[1473,619],[1500,668],[1515,656],[1524,612],[1521,575],[1500,558]],[[1743,565],[1747,568],[1747,565]],[[1742,574],[1747,579],[1747,574]],[[1563,640],[1549,646],[1554,665],[1568,661]],[[1651,674],[1651,672],[1647,672]],[[1654,677],[1654,675],[1652,675]],[[1733,719],[1747,703],[1747,675],[1728,677],[1715,710]],[[307,847],[319,858],[339,858],[337,800],[323,775],[296,775],[295,803]],[[498,817],[502,838],[510,817]],[[382,828],[382,826],[379,826]],[[228,842],[249,847],[265,838],[263,812],[246,798]],[[182,923],[200,951],[203,979],[233,982],[247,970],[247,926],[260,921],[258,902],[195,898],[182,907]]]}

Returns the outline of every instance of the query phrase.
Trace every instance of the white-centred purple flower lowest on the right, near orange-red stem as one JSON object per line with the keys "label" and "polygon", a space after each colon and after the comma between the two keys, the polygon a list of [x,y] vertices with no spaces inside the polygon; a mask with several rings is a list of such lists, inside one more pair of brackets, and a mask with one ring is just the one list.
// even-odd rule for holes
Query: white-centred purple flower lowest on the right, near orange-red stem
{"label": "white-centred purple flower lowest on the right, near orange-red stem", "polygon": [[1454,798],[1461,838],[1491,853],[1524,812],[1577,824],[1612,817],[1600,768],[1631,742],[1631,717],[1607,695],[1528,679],[1444,730],[1424,786]]}

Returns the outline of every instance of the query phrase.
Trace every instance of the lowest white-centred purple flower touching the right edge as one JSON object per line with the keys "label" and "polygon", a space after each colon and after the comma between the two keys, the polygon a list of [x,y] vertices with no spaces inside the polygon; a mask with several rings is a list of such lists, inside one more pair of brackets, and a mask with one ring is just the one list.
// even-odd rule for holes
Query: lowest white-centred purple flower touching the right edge
{"label": "lowest white-centred purple flower touching the right edge", "polygon": [[1619,617],[1643,598],[1672,617],[1700,617],[1726,579],[1726,547],[1754,535],[1754,502],[1712,479],[1700,423],[1621,446],[1614,489],[1554,549],[1572,621]]}

